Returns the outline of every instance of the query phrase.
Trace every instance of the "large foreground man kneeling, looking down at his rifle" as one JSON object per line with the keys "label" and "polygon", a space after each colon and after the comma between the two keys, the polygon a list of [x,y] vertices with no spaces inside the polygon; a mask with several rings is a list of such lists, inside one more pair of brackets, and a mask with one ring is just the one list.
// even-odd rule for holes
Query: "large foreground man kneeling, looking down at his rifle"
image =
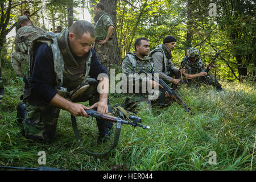
{"label": "large foreground man kneeling, looking down at his rifle", "polygon": [[[18,107],[26,138],[52,142],[60,109],[75,117],[88,117],[85,109],[95,107],[98,113],[111,111],[108,93],[97,92],[96,79],[106,89],[109,88],[109,79],[108,72],[91,48],[95,36],[92,24],[79,20],[57,38],[44,35],[32,42],[30,67],[23,79],[27,114],[23,114],[24,104]],[[75,103],[88,100],[90,107]],[[112,123],[97,119],[97,125],[98,140],[109,137]]]}

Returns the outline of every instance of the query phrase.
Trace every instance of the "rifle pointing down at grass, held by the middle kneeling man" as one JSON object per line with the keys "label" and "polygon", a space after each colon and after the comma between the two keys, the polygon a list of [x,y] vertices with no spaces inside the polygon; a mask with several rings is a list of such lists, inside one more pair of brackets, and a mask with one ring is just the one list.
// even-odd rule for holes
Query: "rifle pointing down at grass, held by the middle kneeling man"
{"label": "rifle pointing down at grass, held by the middle kneeling man", "polygon": [[[145,73],[146,75],[148,75],[145,71],[143,71],[143,69],[141,69],[141,71],[139,71],[138,74],[140,74],[141,72]],[[156,81],[154,77],[151,77],[152,80]],[[172,100],[174,100],[175,102],[177,102],[177,104],[183,106],[183,108],[185,109],[186,113],[189,113],[191,112],[192,113],[192,110],[191,108],[185,104],[185,102],[177,95],[177,93],[172,90],[167,84],[166,82],[164,82],[161,78],[159,78],[158,80],[158,84],[162,85],[163,88],[160,88],[160,90],[162,90],[162,93],[160,95],[160,98],[159,98],[159,105],[160,106],[163,106],[164,105],[164,100],[165,100],[165,93],[168,92],[169,96],[171,96]]]}

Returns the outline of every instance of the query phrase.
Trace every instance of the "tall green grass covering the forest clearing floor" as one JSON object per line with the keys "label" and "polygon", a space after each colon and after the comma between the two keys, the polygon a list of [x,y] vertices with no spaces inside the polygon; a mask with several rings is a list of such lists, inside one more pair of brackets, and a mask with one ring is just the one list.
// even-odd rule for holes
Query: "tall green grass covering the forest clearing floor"
{"label": "tall green grass covering the forest clearing floor", "polygon": [[[222,82],[224,92],[211,86],[187,88],[178,94],[195,115],[183,107],[154,108],[138,113],[140,127],[122,125],[118,146],[104,156],[89,156],[77,146],[70,114],[61,110],[56,140],[51,144],[34,142],[22,136],[15,121],[16,105],[22,94],[22,79],[3,69],[5,96],[0,106],[0,165],[37,167],[38,152],[46,152],[46,166],[68,170],[110,170],[117,164],[129,170],[255,170],[255,83]],[[122,94],[110,94],[110,104],[124,101]],[[88,104],[86,102],[85,104]],[[84,146],[105,151],[112,144],[97,144],[97,126],[93,120],[77,118]],[[115,124],[114,124],[115,126]],[[112,137],[113,139],[113,137]],[[216,152],[216,164],[209,164],[210,151]],[[255,150],[254,150],[255,151]]]}

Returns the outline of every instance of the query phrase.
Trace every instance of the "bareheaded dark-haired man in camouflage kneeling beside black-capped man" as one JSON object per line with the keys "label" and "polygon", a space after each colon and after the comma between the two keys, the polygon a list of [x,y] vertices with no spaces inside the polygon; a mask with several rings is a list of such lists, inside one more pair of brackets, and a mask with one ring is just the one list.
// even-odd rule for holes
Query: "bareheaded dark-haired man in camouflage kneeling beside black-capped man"
{"label": "bareheaded dark-haired man in camouflage kneeling beside black-capped man", "polygon": [[[135,40],[134,48],[136,50],[134,53],[129,52],[123,58],[122,73],[125,73],[128,82],[130,77],[130,81],[133,81],[133,86],[137,80],[140,81],[139,93],[136,93],[136,88],[133,89],[135,93],[127,92],[124,104],[124,109],[137,113],[139,110],[150,110],[151,104],[156,105],[159,102],[158,98],[160,92],[158,92],[158,88],[159,86],[162,87],[162,85],[159,85],[157,82],[151,80],[150,77],[142,77],[142,75],[133,77],[134,74],[139,74],[141,69],[154,76],[154,63],[151,57],[147,57],[150,50],[150,44],[148,43],[147,38],[142,37]],[[145,90],[146,92],[143,92],[142,89],[146,88],[146,85],[144,87],[142,86],[143,81],[147,82],[152,90]],[[130,84],[127,83],[127,85]],[[156,90],[153,90],[154,88]],[[166,97],[168,97],[168,93],[166,93]],[[170,101],[171,100],[166,99],[166,102]]]}

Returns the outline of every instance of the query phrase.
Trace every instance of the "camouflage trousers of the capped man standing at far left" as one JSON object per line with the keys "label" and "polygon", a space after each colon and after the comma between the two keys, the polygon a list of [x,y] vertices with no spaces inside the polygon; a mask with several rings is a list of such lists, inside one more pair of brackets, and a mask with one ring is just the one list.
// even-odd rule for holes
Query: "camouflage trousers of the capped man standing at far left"
{"label": "camouflage trousers of the capped man standing at far left", "polygon": [[13,66],[14,73],[19,77],[23,77],[22,64],[28,65],[28,54],[21,52],[12,52],[11,65]]}

